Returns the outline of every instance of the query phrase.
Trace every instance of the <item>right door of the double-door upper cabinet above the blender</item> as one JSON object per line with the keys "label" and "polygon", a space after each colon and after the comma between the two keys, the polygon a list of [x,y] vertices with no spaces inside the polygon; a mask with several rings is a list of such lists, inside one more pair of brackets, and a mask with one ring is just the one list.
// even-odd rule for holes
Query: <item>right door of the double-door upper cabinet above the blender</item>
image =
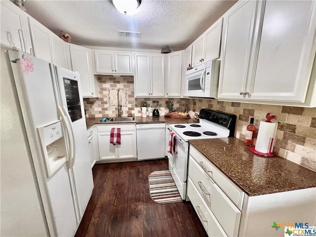
{"label": "right door of the double-door upper cabinet above the blender", "polygon": [[164,55],[150,55],[151,96],[164,96]]}

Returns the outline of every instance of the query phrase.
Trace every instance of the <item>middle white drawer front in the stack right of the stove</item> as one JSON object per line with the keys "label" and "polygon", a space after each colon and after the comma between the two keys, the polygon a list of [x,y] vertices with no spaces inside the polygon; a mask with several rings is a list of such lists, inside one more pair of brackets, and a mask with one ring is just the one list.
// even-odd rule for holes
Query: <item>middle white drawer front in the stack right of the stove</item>
{"label": "middle white drawer front in the stack right of the stove", "polygon": [[228,236],[237,236],[241,212],[190,156],[189,177]]}

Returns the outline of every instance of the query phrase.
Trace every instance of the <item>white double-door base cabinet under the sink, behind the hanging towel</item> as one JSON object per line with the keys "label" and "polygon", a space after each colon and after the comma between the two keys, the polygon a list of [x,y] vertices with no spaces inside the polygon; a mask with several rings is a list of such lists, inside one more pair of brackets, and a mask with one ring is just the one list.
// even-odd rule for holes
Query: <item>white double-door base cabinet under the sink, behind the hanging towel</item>
{"label": "white double-door base cabinet under the sink, behind the hanging towel", "polygon": [[[111,128],[120,128],[120,145],[110,143]],[[135,124],[97,125],[99,161],[136,160]]]}

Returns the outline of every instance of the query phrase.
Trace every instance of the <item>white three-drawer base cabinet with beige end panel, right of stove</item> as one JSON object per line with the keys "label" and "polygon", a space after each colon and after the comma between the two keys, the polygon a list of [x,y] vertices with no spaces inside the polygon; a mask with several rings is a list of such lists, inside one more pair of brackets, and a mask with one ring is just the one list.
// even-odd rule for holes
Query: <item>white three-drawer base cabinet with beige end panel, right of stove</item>
{"label": "white three-drawer base cabinet with beige end panel, right of stove", "polygon": [[315,222],[316,188],[248,196],[194,147],[189,154],[188,197],[208,236],[279,237],[274,222]]}

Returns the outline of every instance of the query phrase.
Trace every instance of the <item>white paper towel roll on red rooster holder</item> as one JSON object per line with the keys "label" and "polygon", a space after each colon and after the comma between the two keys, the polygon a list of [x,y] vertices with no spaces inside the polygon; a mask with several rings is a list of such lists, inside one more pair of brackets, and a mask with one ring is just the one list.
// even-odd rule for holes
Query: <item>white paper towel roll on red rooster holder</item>
{"label": "white paper towel roll on red rooster holder", "polygon": [[[260,122],[255,150],[261,153],[269,153],[273,151],[276,140],[277,122]],[[273,138],[273,140],[272,140]],[[272,142],[272,144],[271,144]],[[270,150],[271,147],[271,151]]]}

